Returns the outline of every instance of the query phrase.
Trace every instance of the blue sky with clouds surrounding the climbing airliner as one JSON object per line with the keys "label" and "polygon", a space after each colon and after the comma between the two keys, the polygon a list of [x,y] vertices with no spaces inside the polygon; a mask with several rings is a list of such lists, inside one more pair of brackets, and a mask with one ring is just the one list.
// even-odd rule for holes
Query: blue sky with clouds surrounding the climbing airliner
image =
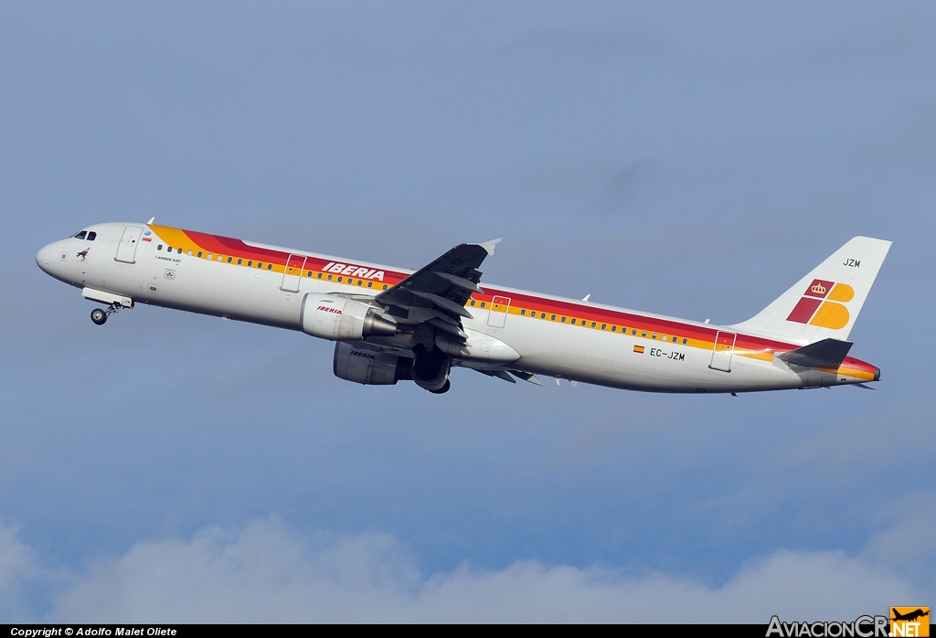
{"label": "blue sky with clouds surrounding the climbing airliner", "polygon": [[[0,618],[931,603],[934,42],[923,3],[3,5]],[[505,237],[487,281],[724,324],[891,239],[883,380],[361,387],[301,334],[94,326],[35,265],[151,216],[409,268]]]}

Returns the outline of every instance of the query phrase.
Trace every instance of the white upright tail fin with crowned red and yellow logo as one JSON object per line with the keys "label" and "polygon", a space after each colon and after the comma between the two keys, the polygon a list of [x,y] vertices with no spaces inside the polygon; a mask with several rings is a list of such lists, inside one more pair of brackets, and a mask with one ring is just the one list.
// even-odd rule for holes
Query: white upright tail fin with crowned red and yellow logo
{"label": "white upright tail fin with crowned red and yellow logo", "polygon": [[890,244],[851,239],[767,308],[730,327],[800,342],[846,341]]}

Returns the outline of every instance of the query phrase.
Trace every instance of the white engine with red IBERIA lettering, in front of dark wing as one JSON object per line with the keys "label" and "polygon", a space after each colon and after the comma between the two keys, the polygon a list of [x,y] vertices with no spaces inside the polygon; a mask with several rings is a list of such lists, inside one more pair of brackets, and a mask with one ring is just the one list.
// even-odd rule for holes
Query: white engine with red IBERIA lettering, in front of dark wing
{"label": "white engine with red IBERIA lettering, in front of dark wing", "polygon": [[302,332],[331,341],[364,337],[392,337],[397,325],[376,308],[360,301],[335,295],[302,297]]}

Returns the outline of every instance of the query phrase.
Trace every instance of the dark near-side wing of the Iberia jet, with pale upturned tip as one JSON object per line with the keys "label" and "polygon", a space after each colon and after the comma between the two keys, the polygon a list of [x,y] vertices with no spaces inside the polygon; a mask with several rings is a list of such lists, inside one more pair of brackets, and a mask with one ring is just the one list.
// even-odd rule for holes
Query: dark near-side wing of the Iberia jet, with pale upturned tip
{"label": "dark near-side wing of the Iberia jet, with pale upturned tip", "polygon": [[471,318],[464,305],[472,293],[481,291],[477,267],[494,254],[499,241],[459,244],[377,295],[376,300],[402,323],[428,323],[463,341],[467,336],[461,329],[461,318]]}

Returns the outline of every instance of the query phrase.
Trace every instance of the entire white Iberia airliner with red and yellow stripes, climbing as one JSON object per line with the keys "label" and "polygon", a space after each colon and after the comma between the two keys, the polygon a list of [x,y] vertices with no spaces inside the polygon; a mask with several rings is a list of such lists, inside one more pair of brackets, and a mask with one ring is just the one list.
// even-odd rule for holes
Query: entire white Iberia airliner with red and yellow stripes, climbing
{"label": "entire white Iberia airliner with red and yellow stripes, climbing", "polygon": [[[890,241],[856,237],[752,319],[711,326],[585,299],[481,283],[495,239],[416,271],[181,228],[88,226],[36,255],[105,305],[137,304],[302,331],[335,341],[336,376],[449,388],[453,366],[505,381],[535,375],[651,392],[752,392],[878,381],[848,334]],[[867,386],[866,386],[867,387]]]}

